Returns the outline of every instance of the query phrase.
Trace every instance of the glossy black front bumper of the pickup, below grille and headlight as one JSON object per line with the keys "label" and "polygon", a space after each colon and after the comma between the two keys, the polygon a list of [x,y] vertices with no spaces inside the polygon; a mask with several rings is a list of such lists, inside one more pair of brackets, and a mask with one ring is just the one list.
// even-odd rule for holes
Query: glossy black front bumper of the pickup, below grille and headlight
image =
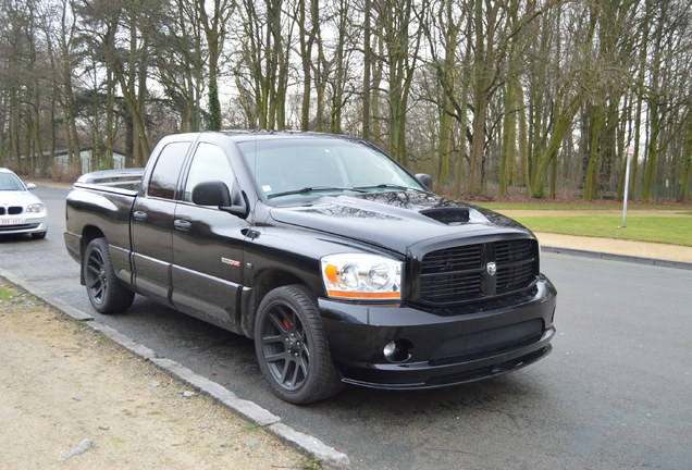
{"label": "glossy black front bumper of the pickup, below grille and headlight", "polygon": [[[319,299],[343,381],[397,389],[472,382],[537,361],[552,349],[555,304],[555,287],[543,276],[529,294],[456,310]],[[405,360],[384,357],[390,342],[410,345]]]}

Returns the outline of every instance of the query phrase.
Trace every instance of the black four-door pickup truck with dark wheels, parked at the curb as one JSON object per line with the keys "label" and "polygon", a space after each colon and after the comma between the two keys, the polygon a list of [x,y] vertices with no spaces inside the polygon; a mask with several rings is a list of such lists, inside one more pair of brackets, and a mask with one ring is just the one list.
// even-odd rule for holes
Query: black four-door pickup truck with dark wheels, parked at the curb
{"label": "black four-door pickup truck with dark wheels, parked at the curb", "polygon": [[254,338],[291,403],[545,357],[556,290],[534,235],[430,186],[357,138],[180,134],[144,170],[81,177],[64,237],[97,311],[140,294]]}

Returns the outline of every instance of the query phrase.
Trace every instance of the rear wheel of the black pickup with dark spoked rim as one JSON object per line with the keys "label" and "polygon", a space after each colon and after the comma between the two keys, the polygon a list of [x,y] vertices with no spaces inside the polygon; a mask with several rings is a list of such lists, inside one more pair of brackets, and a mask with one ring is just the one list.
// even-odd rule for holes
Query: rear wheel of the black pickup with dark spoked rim
{"label": "rear wheel of the black pickup with dark spoked rim", "polygon": [[100,313],[118,313],[127,310],[135,293],[115,276],[106,238],[95,238],[87,246],[82,259],[84,280],[89,301]]}

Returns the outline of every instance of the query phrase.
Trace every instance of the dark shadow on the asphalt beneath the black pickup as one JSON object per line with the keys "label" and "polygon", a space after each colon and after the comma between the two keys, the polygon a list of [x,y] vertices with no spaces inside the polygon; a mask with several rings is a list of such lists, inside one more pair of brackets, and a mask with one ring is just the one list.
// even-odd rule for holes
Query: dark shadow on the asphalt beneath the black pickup
{"label": "dark shadow on the asphalt beneath the black pickup", "polygon": [[[98,313],[96,317],[99,316]],[[346,386],[338,395],[309,406],[296,407],[274,397],[261,375],[251,339],[230,333],[193,317],[137,297],[131,309],[118,316],[133,339],[152,347],[158,354],[176,360],[196,373],[213,380],[240,398],[250,399],[277,415],[307,412],[336,418],[357,428],[406,428],[417,417],[430,425],[452,425],[478,413],[497,413],[516,422],[508,408],[518,404],[534,409],[546,399],[549,386],[541,380],[541,363],[494,379],[425,391],[383,391]],[[114,324],[118,329],[118,324]],[[543,362],[543,361],[542,361]],[[509,406],[511,404],[511,406]],[[300,411],[298,411],[300,410]],[[378,424],[380,423],[380,424]]]}

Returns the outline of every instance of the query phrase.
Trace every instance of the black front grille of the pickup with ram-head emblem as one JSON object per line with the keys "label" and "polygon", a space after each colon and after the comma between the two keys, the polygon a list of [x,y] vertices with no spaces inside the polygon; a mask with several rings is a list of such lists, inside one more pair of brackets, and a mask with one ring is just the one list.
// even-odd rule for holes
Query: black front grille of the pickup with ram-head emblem
{"label": "black front grille of the pickup with ram-head emblem", "polygon": [[539,246],[532,239],[447,248],[423,257],[420,300],[452,305],[490,299],[529,288],[537,275]]}

